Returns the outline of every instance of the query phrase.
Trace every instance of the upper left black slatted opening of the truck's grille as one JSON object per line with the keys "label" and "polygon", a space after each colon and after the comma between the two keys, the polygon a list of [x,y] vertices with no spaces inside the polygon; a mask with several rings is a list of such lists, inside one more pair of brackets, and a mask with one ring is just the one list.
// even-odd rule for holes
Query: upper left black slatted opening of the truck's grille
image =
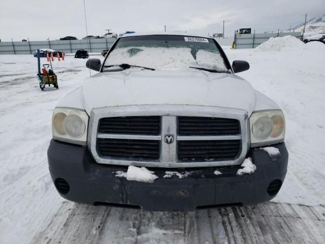
{"label": "upper left black slatted opening of the truck's grille", "polygon": [[99,123],[100,133],[158,135],[159,116],[128,116],[102,118]]}

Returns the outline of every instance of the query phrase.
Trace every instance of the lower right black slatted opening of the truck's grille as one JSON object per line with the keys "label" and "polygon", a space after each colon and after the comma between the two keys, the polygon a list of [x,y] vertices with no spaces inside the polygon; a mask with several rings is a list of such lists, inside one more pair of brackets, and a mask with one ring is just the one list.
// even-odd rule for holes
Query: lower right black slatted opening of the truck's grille
{"label": "lower right black slatted opening of the truck's grille", "polygon": [[178,141],[178,159],[183,161],[234,160],[240,154],[241,140]]}

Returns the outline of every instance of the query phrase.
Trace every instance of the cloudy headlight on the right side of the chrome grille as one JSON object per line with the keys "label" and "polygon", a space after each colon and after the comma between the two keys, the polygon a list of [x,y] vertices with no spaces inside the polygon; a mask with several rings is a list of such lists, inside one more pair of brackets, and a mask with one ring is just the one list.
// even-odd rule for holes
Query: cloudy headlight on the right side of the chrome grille
{"label": "cloudy headlight on the right side of the chrome grille", "polygon": [[249,118],[251,146],[263,146],[284,141],[285,120],[281,110],[252,113]]}

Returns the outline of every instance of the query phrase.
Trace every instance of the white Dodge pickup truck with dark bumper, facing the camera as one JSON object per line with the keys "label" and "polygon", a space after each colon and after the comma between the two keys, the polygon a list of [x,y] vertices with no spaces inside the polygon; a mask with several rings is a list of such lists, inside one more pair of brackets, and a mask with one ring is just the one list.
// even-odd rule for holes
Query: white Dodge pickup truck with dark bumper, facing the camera
{"label": "white Dodge pickup truck with dark bumper, facing the camera", "polygon": [[99,73],[53,111],[48,164],[63,198],[191,211],[279,192],[283,112],[236,75],[249,64],[231,65],[212,37],[125,36],[86,67]]}

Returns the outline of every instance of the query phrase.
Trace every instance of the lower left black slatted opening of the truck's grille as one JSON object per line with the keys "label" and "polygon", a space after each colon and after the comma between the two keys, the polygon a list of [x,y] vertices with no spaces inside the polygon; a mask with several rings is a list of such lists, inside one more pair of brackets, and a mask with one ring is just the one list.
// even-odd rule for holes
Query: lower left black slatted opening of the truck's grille
{"label": "lower left black slatted opening of the truck's grille", "polygon": [[144,160],[159,158],[159,141],[157,140],[98,138],[97,147],[102,156]]}

